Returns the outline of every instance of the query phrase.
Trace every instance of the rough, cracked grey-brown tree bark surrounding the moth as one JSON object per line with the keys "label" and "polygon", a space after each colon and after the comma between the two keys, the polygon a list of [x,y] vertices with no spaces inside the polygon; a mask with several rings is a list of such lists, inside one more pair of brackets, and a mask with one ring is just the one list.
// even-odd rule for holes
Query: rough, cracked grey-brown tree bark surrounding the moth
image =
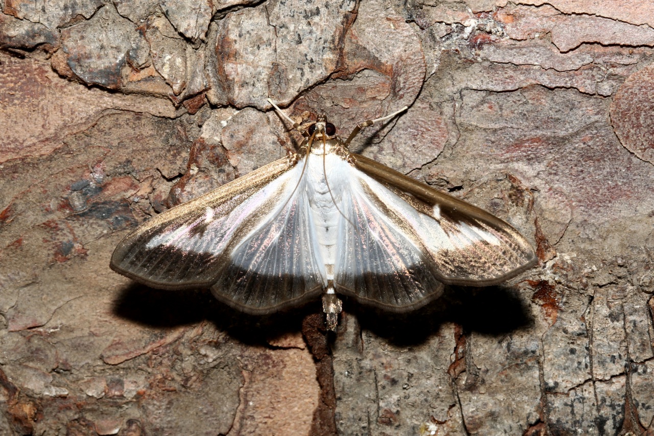
{"label": "rough, cracked grey-brown tree bark surrounding the moth", "polygon": [[[0,2],[0,436],[653,435],[654,8]],[[410,314],[254,317],[109,269],[298,122],[507,220],[540,265]]]}

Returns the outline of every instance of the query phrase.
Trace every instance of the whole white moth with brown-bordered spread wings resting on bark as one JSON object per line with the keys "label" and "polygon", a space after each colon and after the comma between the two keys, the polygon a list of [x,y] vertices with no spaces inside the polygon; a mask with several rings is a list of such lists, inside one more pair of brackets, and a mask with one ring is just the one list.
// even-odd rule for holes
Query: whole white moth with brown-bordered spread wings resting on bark
{"label": "whole white moth with brown-bordered spread wings resting on bark", "polygon": [[269,314],[322,295],[329,329],[341,300],[392,311],[421,307],[443,284],[488,286],[537,263],[516,229],[484,210],[349,152],[324,116],[298,152],[167,210],[116,246],[111,268],[152,288],[211,288]]}

